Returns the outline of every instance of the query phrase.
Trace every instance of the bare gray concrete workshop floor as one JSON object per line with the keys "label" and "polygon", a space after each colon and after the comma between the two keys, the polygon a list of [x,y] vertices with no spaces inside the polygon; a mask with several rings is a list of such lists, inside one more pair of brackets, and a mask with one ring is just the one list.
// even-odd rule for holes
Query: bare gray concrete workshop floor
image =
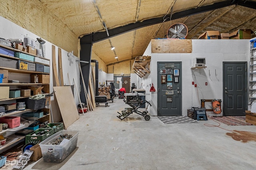
{"label": "bare gray concrete workshop floor", "polygon": [[[200,123],[164,124],[157,117],[145,121],[138,114],[120,121],[116,115],[128,107],[122,99],[100,104],[80,115],[68,130],[79,130],[76,149],[62,163],[43,159],[25,170],[255,170],[256,138],[243,143],[208,119]],[[256,132],[256,126],[221,127]]]}

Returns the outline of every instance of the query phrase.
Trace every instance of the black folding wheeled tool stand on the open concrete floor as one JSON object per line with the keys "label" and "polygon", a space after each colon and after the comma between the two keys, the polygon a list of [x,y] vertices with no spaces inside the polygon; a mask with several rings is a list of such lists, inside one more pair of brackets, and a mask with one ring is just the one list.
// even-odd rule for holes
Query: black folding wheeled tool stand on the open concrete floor
{"label": "black folding wheeled tool stand on the open concrete floor", "polygon": [[[119,115],[117,116],[119,119],[123,120],[125,118],[127,118],[130,114],[132,113],[137,113],[139,115],[142,115],[144,117],[145,120],[149,120],[150,119],[150,115],[148,115],[148,105],[151,106],[151,104],[140,98],[140,96],[148,96],[150,94],[144,94],[144,93],[125,93],[124,96],[126,96],[126,100],[124,98],[124,102],[125,104],[128,104],[131,108],[125,108],[124,110],[122,110],[122,113],[117,112]],[[138,108],[140,108],[140,106],[144,105],[144,104],[148,104],[145,111],[138,111]]]}

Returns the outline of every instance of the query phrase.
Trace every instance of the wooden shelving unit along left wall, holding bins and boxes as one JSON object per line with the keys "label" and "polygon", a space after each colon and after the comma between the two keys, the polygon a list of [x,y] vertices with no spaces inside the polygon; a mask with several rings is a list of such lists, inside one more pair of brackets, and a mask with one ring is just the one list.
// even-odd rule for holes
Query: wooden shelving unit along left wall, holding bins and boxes
{"label": "wooden shelving unit along left wall, holding bins and boxes", "polygon": [[[24,51],[20,51],[18,49],[14,49],[14,48],[3,46],[3,45],[0,45],[0,47],[5,48],[5,49],[9,49],[9,50],[14,51],[14,52],[25,53]],[[31,55],[29,53],[25,53],[25,54]],[[32,55],[32,56],[34,56],[34,55]],[[4,55],[4,54],[0,54],[0,57],[5,58],[5,59],[16,60],[16,61],[20,60],[20,61],[26,61],[26,62],[29,62],[29,63],[38,63],[38,62],[28,61],[28,60],[24,60],[24,59],[20,59],[20,58],[17,58],[17,57]],[[34,57],[36,57],[36,56],[34,56]],[[45,59],[45,58],[43,58],[43,59]],[[45,60],[49,60],[49,59],[45,59]],[[43,64],[43,63],[38,63],[38,64],[42,64],[44,66],[50,66],[49,64]],[[1,86],[9,86],[10,89],[12,89],[12,88],[19,88],[19,86],[42,86],[42,87],[44,87],[43,90],[44,90],[45,93],[50,93],[50,83],[30,83],[29,79],[25,80],[25,81],[29,81],[28,83],[22,82],[22,81],[24,81],[24,80],[22,80],[22,74],[47,74],[47,75],[49,75],[50,73],[30,71],[30,70],[21,70],[21,69],[17,69],[17,67],[16,68],[14,68],[14,67],[9,68],[9,67],[5,67],[5,65],[0,66],[0,70],[8,70],[9,76],[12,73],[20,73],[20,76],[18,76],[20,79],[15,79],[15,80],[19,80],[21,82],[21,83],[0,83],[0,87]],[[24,75],[24,76],[28,77],[27,75]],[[0,99],[0,104],[10,103],[10,102],[16,103],[18,99],[24,99],[24,98],[29,98],[29,97],[31,97],[31,96]],[[13,111],[13,112],[7,113],[5,115],[0,115],[0,117],[10,116],[10,115],[20,116],[22,113],[33,112],[33,111],[34,111],[33,109],[25,109],[25,110],[22,110],[22,111]],[[44,111],[44,113],[49,113],[49,114],[38,118],[38,120],[50,121],[50,107],[45,107],[44,109],[42,109],[42,111]],[[14,145],[17,145],[19,142],[24,141],[25,136],[17,136],[14,133],[16,131],[22,130],[26,127],[28,127],[28,123],[26,123],[26,126],[24,126],[24,124],[21,124],[19,127],[12,128],[12,129],[8,128],[8,129],[3,130],[2,132],[0,132],[0,134],[4,134],[5,135],[4,137],[7,139],[6,144],[3,145],[3,146],[0,146],[0,153],[4,152],[7,149],[10,149],[10,147],[13,147]]]}

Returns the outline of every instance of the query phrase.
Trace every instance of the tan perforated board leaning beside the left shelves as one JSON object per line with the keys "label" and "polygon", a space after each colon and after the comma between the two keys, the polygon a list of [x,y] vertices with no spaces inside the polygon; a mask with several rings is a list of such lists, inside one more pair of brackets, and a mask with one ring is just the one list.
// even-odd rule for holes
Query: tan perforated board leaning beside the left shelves
{"label": "tan perforated board leaning beside the left shelves", "polygon": [[79,119],[78,111],[70,86],[53,87],[65,128]]}

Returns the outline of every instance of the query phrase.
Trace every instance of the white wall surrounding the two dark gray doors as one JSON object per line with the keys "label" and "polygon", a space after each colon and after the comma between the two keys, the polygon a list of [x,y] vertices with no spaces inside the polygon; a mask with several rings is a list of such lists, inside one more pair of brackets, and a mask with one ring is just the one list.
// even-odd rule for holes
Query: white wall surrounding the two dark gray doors
{"label": "white wall surrounding the two dark gray doors", "polygon": [[[139,79],[141,79],[142,84],[145,85],[152,82],[156,89],[156,92],[150,92],[152,95],[146,97],[146,99],[152,104],[151,115],[157,115],[157,62],[160,61],[182,62],[182,115],[187,115],[187,109],[190,109],[191,107],[200,107],[201,99],[223,100],[223,62],[246,61],[248,62],[247,65],[249,65],[250,41],[248,39],[192,39],[192,53],[151,53],[150,43],[144,55],[151,56],[151,73],[150,75]],[[206,58],[207,68],[195,70],[191,69],[194,59],[197,57]],[[192,85],[192,81],[198,85],[198,88],[195,88],[194,85]],[[207,86],[205,85],[205,82],[208,83]],[[205,104],[206,109],[211,109],[210,102],[206,102]],[[248,109],[251,109],[251,111],[256,110],[254,104],[248,107]],[[208,115],[213,115],[213,112],[208,112]]]}

